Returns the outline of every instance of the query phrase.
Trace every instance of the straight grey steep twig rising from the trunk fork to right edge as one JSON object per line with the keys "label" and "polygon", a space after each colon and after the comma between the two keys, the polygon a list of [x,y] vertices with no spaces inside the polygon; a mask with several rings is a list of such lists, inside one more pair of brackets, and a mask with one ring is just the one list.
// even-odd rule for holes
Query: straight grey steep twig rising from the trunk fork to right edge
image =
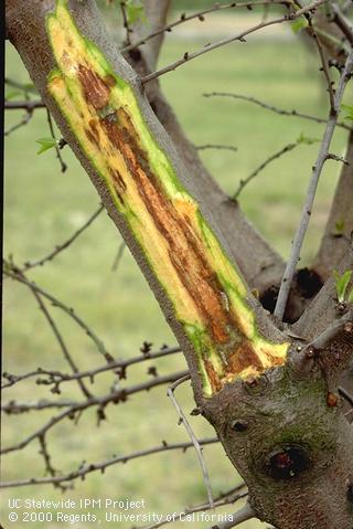
{"label": "straight grey steep twig rising from the trunk fork to right edge", "polygon": [[292,243],[291,252],[290,252],[290,257],[281,281],[281,285],[280,285],[280,289],[279,289],[278,298],[276,303],[276,308],[275,308],[275,316],[279,320],[282,319],[285,310],[286,310],[289,290],[291,287],[293,275],[296,273],[297,263],[300,257],[300,251],[301,251],[302,243],[303,243],[307,229],[309,225],[319,178],[320,178],[323,165],[327,160],[327,156],[329,154],[332,136],[335,129],[338,115],[341,107],[341,100],[344,94],[345,86],[349,80],[351,78],[352,67],[353,67],[353,51],[351,51],[346,60],[345,66],[343,68],[343,72],[340,76],[338,89],[334,96],[334,112],[330,112],[330,118],[325,127],[320,151],[319,151],[315,165],[313,166],[312,174],[310,178],[306,202],[301,212],[299,228],[297,230],[297,233]]}

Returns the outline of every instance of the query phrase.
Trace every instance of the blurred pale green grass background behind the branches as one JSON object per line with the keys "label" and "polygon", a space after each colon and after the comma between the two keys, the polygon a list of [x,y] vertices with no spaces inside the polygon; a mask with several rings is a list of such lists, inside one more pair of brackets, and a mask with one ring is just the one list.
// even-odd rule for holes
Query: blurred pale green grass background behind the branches
{"label": "blurred pale green grass background behind the branches", "polygon": [[[189,13],[213,3],[204,0],[174,1],[170,20],[178,19],[183,11]],[[122,33],[117,2],[110,7],[101,4],[101,8],[109,32],[118,41]],[[225,10],[210,14],[204,22],[196,19],[183,24],[167,34],[159,65],[169,64],[186,51],[194,51],[210,41],[236,33],[252,25],[256,17],[259,14],[250,11]],[[10,44],[7,45],[6,59],[7,77],[29,83],[21,60]],[[160,82],[188,136],[196,146],[226,144],[237,148],[236,151],[201,151],[215,180],[232,194],[242,179],[285,145],[295,142],[301,135],[320,139],[323,125],[279,116],[246,102],[204,98],[203,94],[234,92],[289,110],[325,117],[328,98],[318,66],[318,56],[306,40],[296,35],[289,25],[281,24],[248,38],[247,43],[237,42],[205,54],[164,75]],[[8,95],[15,100],[17,96],[9,94],[11,89],[13,92],[13,88],[7,88]],[[8,112],[6,129],[18,123],[22,114],[21,110]],[[42,257],[65,241],[99,204],[89,179],[67,147],[62,151],[68,166],[65,173],[60,170],[54,149],[36,155],[39,146],[35,140],[47,136],[46,114],[44,109],[39,109],[26,126],[6,138],[4,255],[11,254],[18,265]],[[338,129],[331,150],[343,155],[346,131]],[[317,142],[298,146],[274,161],[244,189],[239,198],[240,207],[250,221],[285,258],[297,228],[317,151]],[[325,165],[302,264],[310,261],[319,246],[339,170],[340,165],[335,161]],[[143,341],[152,342],[152,349],[158,350],[164,343],[174,345],[175,339],[128,250],[125,250],[117,269],[113,269],[120,243],[120,235],[103,213],[66,252],[44,267],[29,272],[28,276],[74,307],[104,340],[109,352],[124,359],[137,356]],[[26,287],[6,279],[3,307],[3,371],[20,374],[42,367],[67,372],[52,331]],[[51,308],[51,313],[81,369],[104,363],[94,343],[67,316],[57,308]],[[153,366],[159,374],[167,374],[185,369],[185,361],[182,355],[173,355],[154,361]],[[149,367],[148,362],[131,367],[128,380],[121,381],[121,387],[151,378],[147,372]],[[103,374],[89,389],[95,395],[105,394],[113,383],[111,373]],[[165,395],[165,389],[156,388],[131,396],[125,404],[109,405],[107,420],[99,427],[95,410],[84,413],[77,424],[69,420],[60,423],[47,436],[54,467],[67,473],[84,461],[94,463],[113,454],[128,454],[160,444],[161,440],[188,441],[183,426],[176,424],[178,414]],[[189,413],[194,408],[190,384],[181,388],[178,395]],[[72,383],[63,387],[61,395],[53,395],[49,388],[36,385],[33,379],[2,394],[3,403],[40,399],[79,400],[82,395]],[[2,446],[18,443],[52,415],[52,411],[4,415]],[[202,417],[191,417],[191,422],[197,436],[214,435]],[[240,482],[222,447],[207,446],[204,456],[215,495]],[[3,457],[4,482],[41,477],[43,473],[38,442]],[[6,489],[1,496],[2,519],[7,520],[9,498],[55,499],[62,498],[62,493],[49,485]],[[65,497],[145,498],[148,510],[167,514],[206,500],[206,493],[195,453],[188,449],[186,453],[162,453],[126,465],[115,465],[104,475],[92,473],[85,480],[76,480],[75,488],[66,491]],[[233,510],[232,506],[225,509],[228,512]],[[89,526],[81,523],[78,527],[85,529]],[[175,523],[172,527],[182,526]],[[12,523],[11,527],[22,526]],[[58,525],[33,522],[31,527],[54,529]],[[131,523],[119,527],[128,528]],[[205,523],[192,527],[206,529]],[[248,521],[242,527],[256,529],[266,526]]]}

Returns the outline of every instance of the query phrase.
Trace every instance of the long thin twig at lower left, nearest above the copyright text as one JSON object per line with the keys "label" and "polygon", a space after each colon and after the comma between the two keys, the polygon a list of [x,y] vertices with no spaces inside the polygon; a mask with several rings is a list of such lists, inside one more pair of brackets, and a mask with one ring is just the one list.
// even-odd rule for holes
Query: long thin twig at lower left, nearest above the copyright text
{"label": "long thin twig at lower left, nearest above the copyright text", "polygon": [[[202,446],[206,446],[206,445],[218,443],[218,442],[220,440],[217,437],[199,440],[199,444]],[[126,454],[121,456],[113,456],[108,459],[105,459],[98,463],[90,463],[90,464],[79,466],[77,470],[71,472],[65,475],[57,475],[57,473],[55,474],[51,473],[51,477],[39,477],[39,478],[19,479],[14,482],[3,482],[0,484],[0,488],[24,487],[26,485],[47,485],[47,484],[55,485],[55,484],[60,484],[64,482],[66,483],[73,482],[77,478],[83,478],[87,474],[90,474],[93,472],[100,470],[101,473],[104,473],[104,470],[108,468],[109,466],[113,466],[119,463],[126,464],[132,459],[138,459],[139,457],[146,457],[148,455],[159,454],[163,452],[171,452],[176,449],[181,449],[183,453],[185,453],[186,449],[190,448],[191,446],[193,446],[192,442],[169,444],[165,441],[163,441],[161,445],[153,446],[151,448],[132,452],[131,454]]]}

